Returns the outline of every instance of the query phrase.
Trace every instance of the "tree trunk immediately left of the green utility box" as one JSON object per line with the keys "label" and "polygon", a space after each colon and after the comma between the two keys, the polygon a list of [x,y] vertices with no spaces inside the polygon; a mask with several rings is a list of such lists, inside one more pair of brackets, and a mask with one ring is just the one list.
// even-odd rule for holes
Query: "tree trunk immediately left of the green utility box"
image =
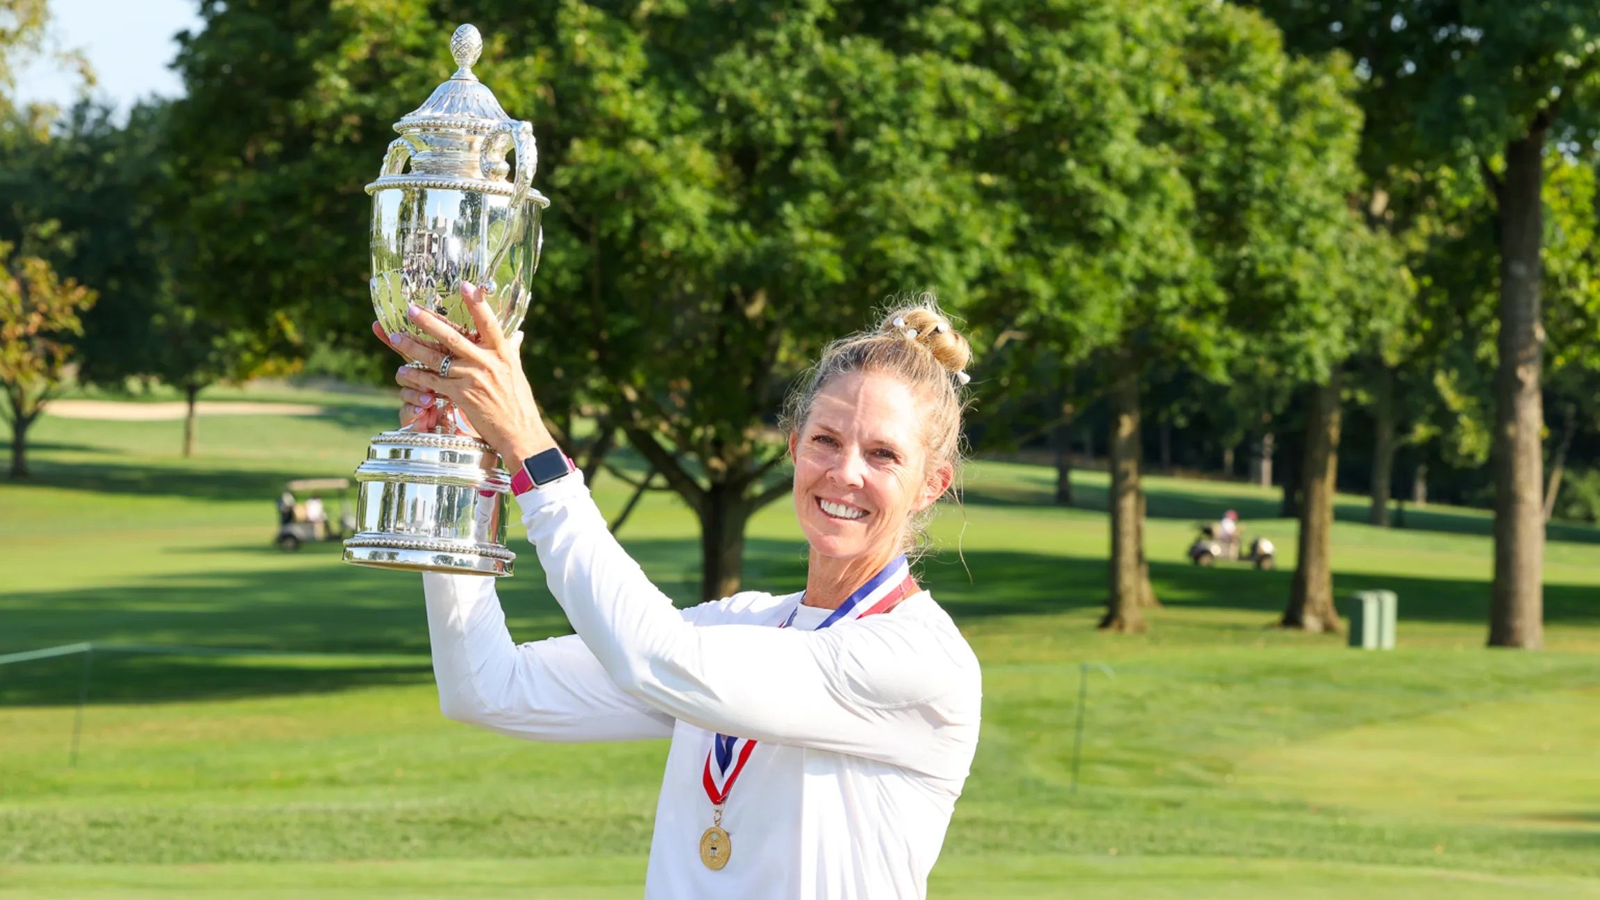
{"label": "tree trunk immediately left of the green utility box", "polygon": [[1283,610],[1283,628],[1306,631],[1339,631],[1339,613],[1333,605],[1333,532],[1334,476],[1339,469],[1339,372],[1310,394],[1306,418],[1306,456],[1301,466],[1304,500],[1299,522],[1299,562],[1290,605]]}

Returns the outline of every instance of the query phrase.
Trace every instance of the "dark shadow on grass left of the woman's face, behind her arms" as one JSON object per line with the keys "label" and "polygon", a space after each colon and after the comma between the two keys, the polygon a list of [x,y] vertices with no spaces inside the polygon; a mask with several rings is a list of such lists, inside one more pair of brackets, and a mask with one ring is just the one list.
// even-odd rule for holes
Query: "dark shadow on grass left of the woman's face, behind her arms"
{"label": "dark shadow on grass left of the woman's face, behind her arms", "polygon": [[[522,546],[515,546],[522,544]],[[522,541],[518,575],[496,583],[515,641],[571,634],[550,597],[538,557]],[[224,548],[238,552],[240,548]],[[243,548],[258,551],[258,548]],[[158,703],[251,693],[302,693],[426,682],[429,634],[421,577],[346,565],[339,544],[307,546],[293,569],[171,575],[158,581],[0,597],[0,653],[77,642],[202,647],[269,653],[384,655],[358,658],[96,653],[96,703]],[[699,591],[699,544],[640,541],[634,556],[656,585],[688,605]],[[262,541],[262,556],[282,556]],[[749,570],[781,591],[805,585],[805,556],[787,543],[752,548]],[[392,663],[413,655],[418,663]],[[0,703],[75,703],[82,657],[0,666]]]}

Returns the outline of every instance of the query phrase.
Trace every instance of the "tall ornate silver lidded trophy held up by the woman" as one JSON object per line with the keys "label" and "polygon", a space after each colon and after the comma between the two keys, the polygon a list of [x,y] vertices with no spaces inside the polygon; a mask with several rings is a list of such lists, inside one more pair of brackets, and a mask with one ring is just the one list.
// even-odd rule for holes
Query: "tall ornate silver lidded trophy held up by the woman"
{"label": "tall ornate silver lidded trophy held up by the woman", "polygon": [[[539,218],[550,202],[533,189],[539,160],[533,127],[507,117],[472,74],[482,51],[478,29],[456,29],[450,38],[456,74],[395,123],[400,138],[389,144],[378,181],[366,186],[373,307],[390,335],[426,338],[406,317],[414,303],[474,336],[462,282],[483,288],[507,335],[528,312]],[[510,181],[507,152],[517,157]],[[442,410],[440,421],[430,432],[406,428],[373,439],[355,469],[360,530],[344,541],[346,562],[510,575],[515,554],[504,543],[510,477],[459,410]]]}

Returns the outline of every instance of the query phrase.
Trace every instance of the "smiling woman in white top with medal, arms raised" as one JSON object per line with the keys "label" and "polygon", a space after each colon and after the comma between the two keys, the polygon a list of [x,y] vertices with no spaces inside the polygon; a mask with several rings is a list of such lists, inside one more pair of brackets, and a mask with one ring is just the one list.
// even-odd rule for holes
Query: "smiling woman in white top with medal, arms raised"
{"label": "smiling woman in white top with medal, arms raised", "polygon": [[445,716],[531,740],[670,737],[646,898],[923,897],[981,684],[906,554],[955,477],[966,341],[930,303],[827,348],[784,416],[805,591],[677,610],[555,450],[522,335],[462,293],[478,343],[416,307],[434,341],[389,338],[434,370],[400,370],[402,421],[432,428],[448,397],[502,460],[530,460],[514,493],[576,634],[518,647],[493,578],[424,575]]}

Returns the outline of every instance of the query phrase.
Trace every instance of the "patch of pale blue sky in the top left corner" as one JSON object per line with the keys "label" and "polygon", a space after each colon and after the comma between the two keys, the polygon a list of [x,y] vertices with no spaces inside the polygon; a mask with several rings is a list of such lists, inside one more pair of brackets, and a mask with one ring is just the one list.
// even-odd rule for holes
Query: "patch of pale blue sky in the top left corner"
{"label": "patch of pale blue sky in the top left corner", "polygon": [[[126,112],[133,101],[178,96],[182,82],[168,69],[178,53],[173,35],[200,27],[198,0],[48,0],[50,42],[82,50],[99,85],[94,91]],[[43,61],[18,72],[22,101],[70,106],[77,77]]]}

